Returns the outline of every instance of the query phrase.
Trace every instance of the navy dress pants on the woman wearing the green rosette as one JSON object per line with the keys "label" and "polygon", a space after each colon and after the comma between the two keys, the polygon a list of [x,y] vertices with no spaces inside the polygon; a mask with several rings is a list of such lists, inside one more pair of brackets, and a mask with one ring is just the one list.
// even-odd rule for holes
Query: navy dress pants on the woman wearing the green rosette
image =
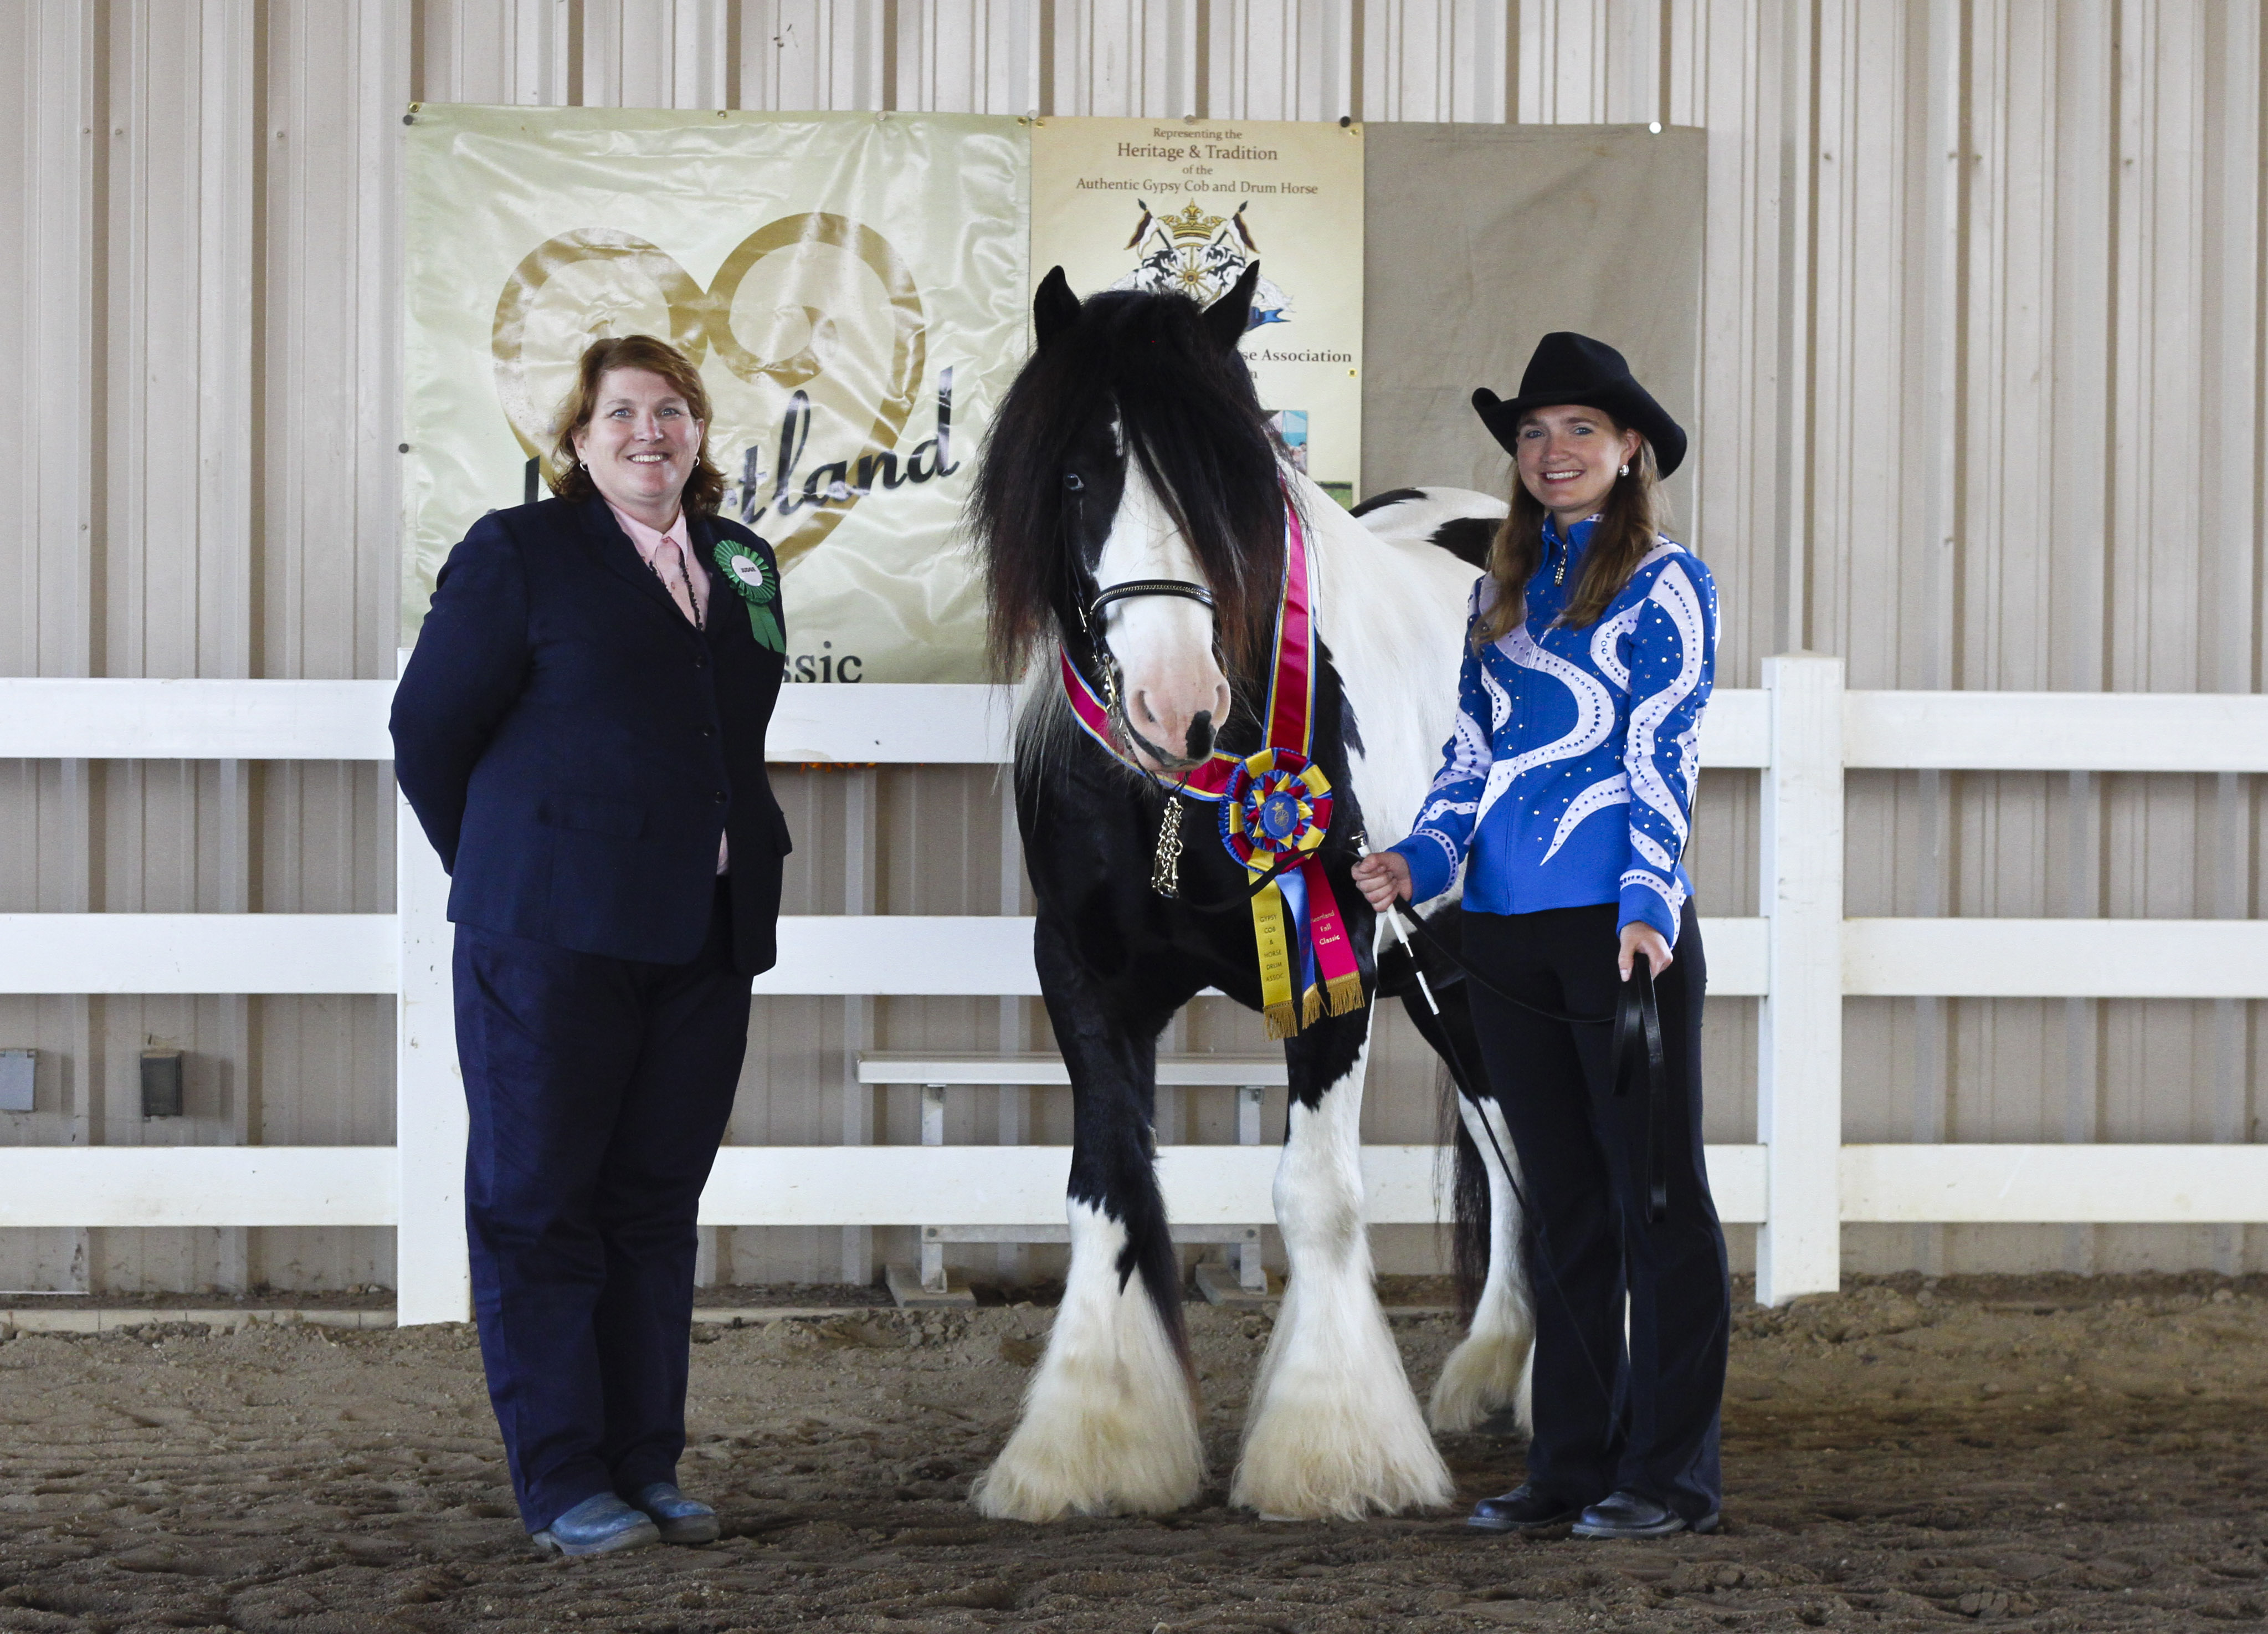
{"label": "navy dress pants on the woman wearing the green rosette", "polygon": [[748,1048],[726,890],[689,965],[456,930],[472,1303],[528,1532],[678,1477],[694,1212]]}

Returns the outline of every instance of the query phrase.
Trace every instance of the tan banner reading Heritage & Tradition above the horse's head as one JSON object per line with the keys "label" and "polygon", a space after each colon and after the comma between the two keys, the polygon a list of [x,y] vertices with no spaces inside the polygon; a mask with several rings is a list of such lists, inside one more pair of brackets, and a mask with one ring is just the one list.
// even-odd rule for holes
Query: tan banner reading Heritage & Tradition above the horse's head
{"label": "tan banner reading Heritage & Tradition above the horse's head", "polygon": [[1245,363],[1293,458],[1352,504],[1363,456],[1363,127],[1048,118],[1032,279],[1213,300],[1261,263]]}

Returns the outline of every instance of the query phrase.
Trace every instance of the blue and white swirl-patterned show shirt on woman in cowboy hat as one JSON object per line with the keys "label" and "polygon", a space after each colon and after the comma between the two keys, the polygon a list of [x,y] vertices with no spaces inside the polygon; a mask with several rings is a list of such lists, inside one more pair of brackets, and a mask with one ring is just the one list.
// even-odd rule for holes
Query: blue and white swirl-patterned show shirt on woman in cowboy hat
{"label": "blue and white swirl-patterned show shirt on woman in cowboy hat", "polygon": [[[1467,642],[1456,733],[1417,826],[1393,849],[1411,865],[1415,901],[1447,892],[1463,862],[1470,910],[1610,901],[1617,926],[1642,919],[1676,942],[1692,894],[1678,858],[1717,672],[1717,581],[1665,538],[1597,624],[1565,629],[1556,620],[1592,527],[1579,522],[1569,545],[1547,520],[1526,622],[1479,654]],[[1490,595],[1481,579],[1474,617]]]}

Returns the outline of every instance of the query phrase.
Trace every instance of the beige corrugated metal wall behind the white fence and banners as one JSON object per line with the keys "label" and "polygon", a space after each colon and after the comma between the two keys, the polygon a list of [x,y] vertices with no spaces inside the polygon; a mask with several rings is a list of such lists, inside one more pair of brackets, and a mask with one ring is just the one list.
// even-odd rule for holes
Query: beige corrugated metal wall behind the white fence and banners
{"label": "beige corrugated metal wall behind the white fence and banners", "polygon": [[[1685,522],[1726,590],[1724,681],[1814,647],[1860,688],[2261,685],[2252,5],[39,0],[0,9],[0,347],[27,377],[0,449],[7,674],[392,674],[395,136],[408,100],[460,100],[1703,125]],[[381,772],[0,763],[0,908],[383,910]],[[1014,901],[991,776],[782,785],[789,910]],[[2259,912],[2250,778],[1862,774],[1848,833],[1857,915]],[[1703,903],[1753,912],[1753,776],[1710,774]],[[869,1121],[846,1096],[846,1051],[1021,1042],[1034,1014],[810,999],[758,1024],[735,1139],[909,1139],[909,1101]],[[1717,1005],[1712,1139],[1753,1137],[1753,1028]],[[2248,1003],[1855,1001],[1848,1030],[1851,1139],[2259,1132]],[[1256,1042],[1234,1014],[1184,1033]],[[392,1139],[386,1001],[0,999],[0,1044],[43,1051],[5,1142]],[[147,1044],[193,1051],[191,1117],[138,1117]],[[1170,1117],[1227,1132],[1202,1096]],[[957,1119],[980,1142],[1066,1121],[1046,1092]],[[1399,1026],[1368,1123],[1431,1130]],[[1871,1269],[2268,1257],[2236,1228],[1846,1244]],[[733,1232],[712,1269],[832,1280],[875,1253],[905,1244]],[[1429,1257],[1424,1232],[1381,1246]],[[0,1235],[7,1287],[370,1280],[386,1232]]]}

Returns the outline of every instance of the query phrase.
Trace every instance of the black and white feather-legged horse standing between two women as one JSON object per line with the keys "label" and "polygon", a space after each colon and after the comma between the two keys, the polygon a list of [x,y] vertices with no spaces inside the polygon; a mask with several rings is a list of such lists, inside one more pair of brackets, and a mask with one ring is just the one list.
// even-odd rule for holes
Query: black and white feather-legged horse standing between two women
{"label": "black and white feather-legged horse standing between two women", "polygon": [[[1050,272],[1034,302],[1039,347],[978,472],[993,651],[1027,676],[1016,810],[1039,899],[1034,951],[1075,1096],[1070,1271],[1023,1418],[975,1486],[993,1516],[1166,1511],[1204,1480],[1182,1273],[1152,1171],[1157,1037],[1207,987],[1261,1008],[1261,980],[1250,876],[1207,833],[1213,808],[1184,799],[1177,899],[1152,890],[1152,862],[1166,801],[1182,799],[1168,794],[1175,778],[1216,744],[1263,742],[1286,502],[1304,517],[1313,579],[1311,753],[1334,787],[1320,856],[1365,996],[1379,926],[1347,878],[1356,835],[1368,824],[1386,842],[1417,815],[1456,708],[1470,542],[1504,515],[1481,495],[1404,490],[1365,527],[1293,470],[1236,356],[1254,272],[1211,309],[1116,290],[1082,304]],[[1467,545],[1467,558],[1445,542]],[[1109,699],[1118,756],[1077,728],[1057,654]],[[1454,910],[1442,933],[1452,924]],[[1229,1493],[1270,1516],[1354,1518],[1452,1496],[1372,1287],[1359,1162],[1368,1042],[1359,1008],[1284,1044],[1275,1207],[1290,1275]],[[1476,1062],[1470,1028],[1461,1058]],[[1513,1178],[1481,1160],[1510,1142],[1492,1105],[1458,1105],[1458,1257],[1481,1287],[1433,1423],[1472,1427],[1517,1407],[1524,1425],[1520,1214]]]}

